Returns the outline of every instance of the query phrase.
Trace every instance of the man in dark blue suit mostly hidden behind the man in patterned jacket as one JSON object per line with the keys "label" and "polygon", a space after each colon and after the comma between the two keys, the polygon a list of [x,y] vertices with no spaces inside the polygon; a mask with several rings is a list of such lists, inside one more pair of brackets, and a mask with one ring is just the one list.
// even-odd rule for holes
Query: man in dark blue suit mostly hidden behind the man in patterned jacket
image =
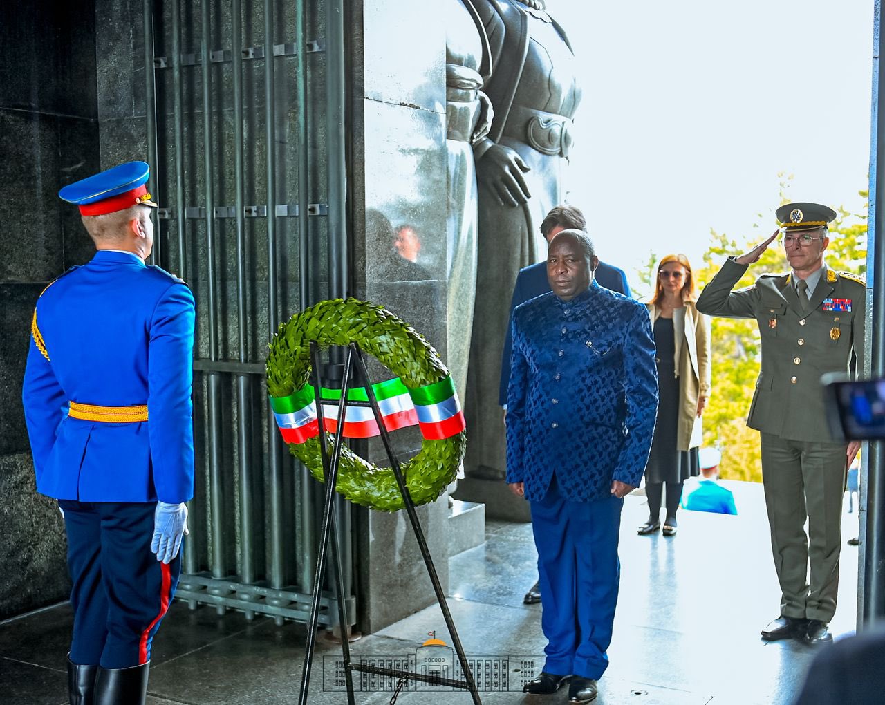
{"label": "man in dark blue suit mostly hidden behind the man in patterned jacket", "polygon": [[[587,232],[587,220],[579,208],[573,205],[558,205],[552,209],[541,223],[541,234],[548,243],[553,237],[563,230],[574,228]],[[593,272],[593,279],[600,285],[625,296],[630,295],[630,285],[627,284],[627,274],[624,270],[600,262]],[[519,270],[516,278],[516,287],[513,288],[513,296],[510,302],[510,316],[513,309],[520,303],[526,303],[535,296],[546,294],[550,291],[550,283],[547,281],[547,263],[538,262]],[[504,337],[504,352],[501,355],[501,387],[498,393],[498,403],[507,408],[507,384],[510,380],[510,354],[512,350],[512,338],[510,326],[507,326],[507,334]],[[529,588],[523,602],[527,605],[541,602],[541,588],[538,583]]]}

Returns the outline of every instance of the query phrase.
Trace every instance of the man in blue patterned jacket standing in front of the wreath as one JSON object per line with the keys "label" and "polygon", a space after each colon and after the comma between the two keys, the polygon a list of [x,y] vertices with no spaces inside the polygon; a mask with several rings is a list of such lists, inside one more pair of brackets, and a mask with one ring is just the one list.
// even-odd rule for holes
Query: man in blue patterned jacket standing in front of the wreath
{"label": "man in blue patterned jacket standing in front of the wreath", "polygon": [[618,601],[623,497],[639,485],[658,410],[641,303],[600,287],[589,236],[550,241],[552,292],[513,311],[507,482],[531,502],[547,655],[527,693],[596,698]]}

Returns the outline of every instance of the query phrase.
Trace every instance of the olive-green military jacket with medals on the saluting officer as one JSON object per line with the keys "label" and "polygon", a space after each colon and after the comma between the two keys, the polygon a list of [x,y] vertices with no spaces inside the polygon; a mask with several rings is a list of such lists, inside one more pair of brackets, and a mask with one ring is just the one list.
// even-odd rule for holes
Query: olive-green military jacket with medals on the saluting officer
{"label": "olive-green military jacket with medals on the saluting officer", "polygon": [[793,441],[833,441],[820,376],[848,372],[852,350],[863,371],[866,286],[825,265],[803,305],[789,273],[763,274],[753,286],[732,291],[746,271],[729,257],[696,307],[709,316],[756,318],[762,370],[747,425]]}

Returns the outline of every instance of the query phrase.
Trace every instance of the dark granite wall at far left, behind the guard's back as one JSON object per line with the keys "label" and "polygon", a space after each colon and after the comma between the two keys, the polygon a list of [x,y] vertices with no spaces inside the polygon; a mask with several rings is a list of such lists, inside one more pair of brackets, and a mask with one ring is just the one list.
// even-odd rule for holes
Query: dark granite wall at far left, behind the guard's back
{"label": "dark granite wall at far left, behind the guard's back", "polygon": [[0,619],[64,600],[64,526],[36,494],[21,404],[34,304],[91,257],[58,189],[95,171],[96,17],[91,0],[0,9]]}

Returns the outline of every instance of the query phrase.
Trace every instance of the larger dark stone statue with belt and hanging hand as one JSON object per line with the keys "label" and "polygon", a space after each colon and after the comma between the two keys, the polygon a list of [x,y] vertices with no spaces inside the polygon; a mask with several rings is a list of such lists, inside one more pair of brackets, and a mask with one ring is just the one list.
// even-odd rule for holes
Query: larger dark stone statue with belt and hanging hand
{"label": "larger dark stone statue with belt and hanging hand", "polygon": [[[497,404],[507,311],[521,267],[544,257],[539,226],[565,200],[572,119],[581,101],[573,50],[542,0],[473,0],[489,39],[484,90],[494,118],[473,155],[479,186],[479,285],[466,387],[468,477],[504,478]],[[455,333],[450,329],[450,335]]]}

